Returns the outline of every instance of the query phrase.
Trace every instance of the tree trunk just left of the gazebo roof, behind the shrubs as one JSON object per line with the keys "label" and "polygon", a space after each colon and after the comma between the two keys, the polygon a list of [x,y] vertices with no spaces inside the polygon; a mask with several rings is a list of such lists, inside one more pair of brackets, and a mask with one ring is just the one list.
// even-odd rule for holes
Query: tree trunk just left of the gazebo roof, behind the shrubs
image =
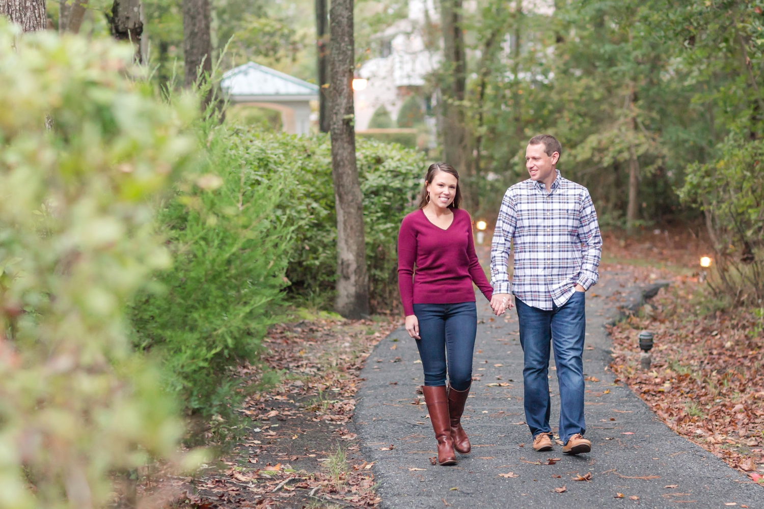
{"label": "tree trunk just left of the gazebo roof, behind the shrubs", "polygon": [[186,88],[196,83],[199,67],[212,74],[209,0],[183,0],[183,63]]}

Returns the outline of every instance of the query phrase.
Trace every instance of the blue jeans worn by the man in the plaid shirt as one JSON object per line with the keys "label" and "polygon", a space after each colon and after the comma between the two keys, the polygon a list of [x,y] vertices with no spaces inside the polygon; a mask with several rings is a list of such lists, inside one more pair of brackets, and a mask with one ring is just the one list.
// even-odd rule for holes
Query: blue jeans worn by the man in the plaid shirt
{"label": "blue jeans worn by the man in the plaid shirt", "polygon": [[520,345],[525,367],[526,421],[533,437],[549,433],[549,343],[555,349],[555,366],[560,386],[560,440],[568,442],[575,433],[586,432],[584,422],[584,336],[586,314],[584,292],[574,292],[561,307],[552,311],[533,308],[515,298],[520,320]]}

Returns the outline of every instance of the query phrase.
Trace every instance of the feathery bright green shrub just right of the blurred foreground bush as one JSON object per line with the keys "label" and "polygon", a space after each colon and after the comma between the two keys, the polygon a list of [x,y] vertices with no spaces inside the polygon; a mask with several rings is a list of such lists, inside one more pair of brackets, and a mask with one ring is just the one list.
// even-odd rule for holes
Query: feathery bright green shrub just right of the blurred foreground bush
{"label": "feathery bright green shrub just right of the blurred foreground bush", "polygon": [[244,395],[229,369],[256,357],[277,320],[293,231],[305,222],[277,213],[296,187],[293,169],[269,174],[241,132],[200,128],[208,148],[199,168],[157,214],[173,267],[157,273],[132,315],[138,348],[160,353],[170,389],[219,432],[236,426]]}

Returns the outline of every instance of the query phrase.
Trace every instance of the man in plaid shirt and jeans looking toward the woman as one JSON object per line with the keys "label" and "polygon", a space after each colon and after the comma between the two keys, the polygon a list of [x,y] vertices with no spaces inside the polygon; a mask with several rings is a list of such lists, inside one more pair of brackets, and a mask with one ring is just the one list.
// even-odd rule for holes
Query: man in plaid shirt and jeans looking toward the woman
{"label": "man in plaid shirt and jeans looking toward the woman", "polygon": [[[556,168],[562,147],[540,134],[526,148],[530,179],[504,195],[490,248],[490,275],[496,314],[513,308],[515,296],[523,347],[526,421],[533,449],[552,449],[549,427],[549,343],[555,350],[560,386],[560,440],[563,453],[591,451],[584,439],[584,295],[597,283],[602,237],[587,188],[563,179]],[[507,277],[514,248],[512,284]]]}

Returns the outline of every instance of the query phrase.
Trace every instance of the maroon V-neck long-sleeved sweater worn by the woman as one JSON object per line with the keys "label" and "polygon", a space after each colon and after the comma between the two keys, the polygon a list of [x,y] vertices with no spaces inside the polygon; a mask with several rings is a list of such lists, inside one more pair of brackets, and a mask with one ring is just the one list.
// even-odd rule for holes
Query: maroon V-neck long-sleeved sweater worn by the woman
{"label": "maroon V-neck long-sleeved sweater worn by the woman", "polygon": [[472,282],[489,301],[493,295],[475,254],[470,214],[461,209],[453,213],[454,221],[446,230],[432,224],[421,209],[403,218],[398,288],[406,316],[414,314],[414,304],[474,302]]}

